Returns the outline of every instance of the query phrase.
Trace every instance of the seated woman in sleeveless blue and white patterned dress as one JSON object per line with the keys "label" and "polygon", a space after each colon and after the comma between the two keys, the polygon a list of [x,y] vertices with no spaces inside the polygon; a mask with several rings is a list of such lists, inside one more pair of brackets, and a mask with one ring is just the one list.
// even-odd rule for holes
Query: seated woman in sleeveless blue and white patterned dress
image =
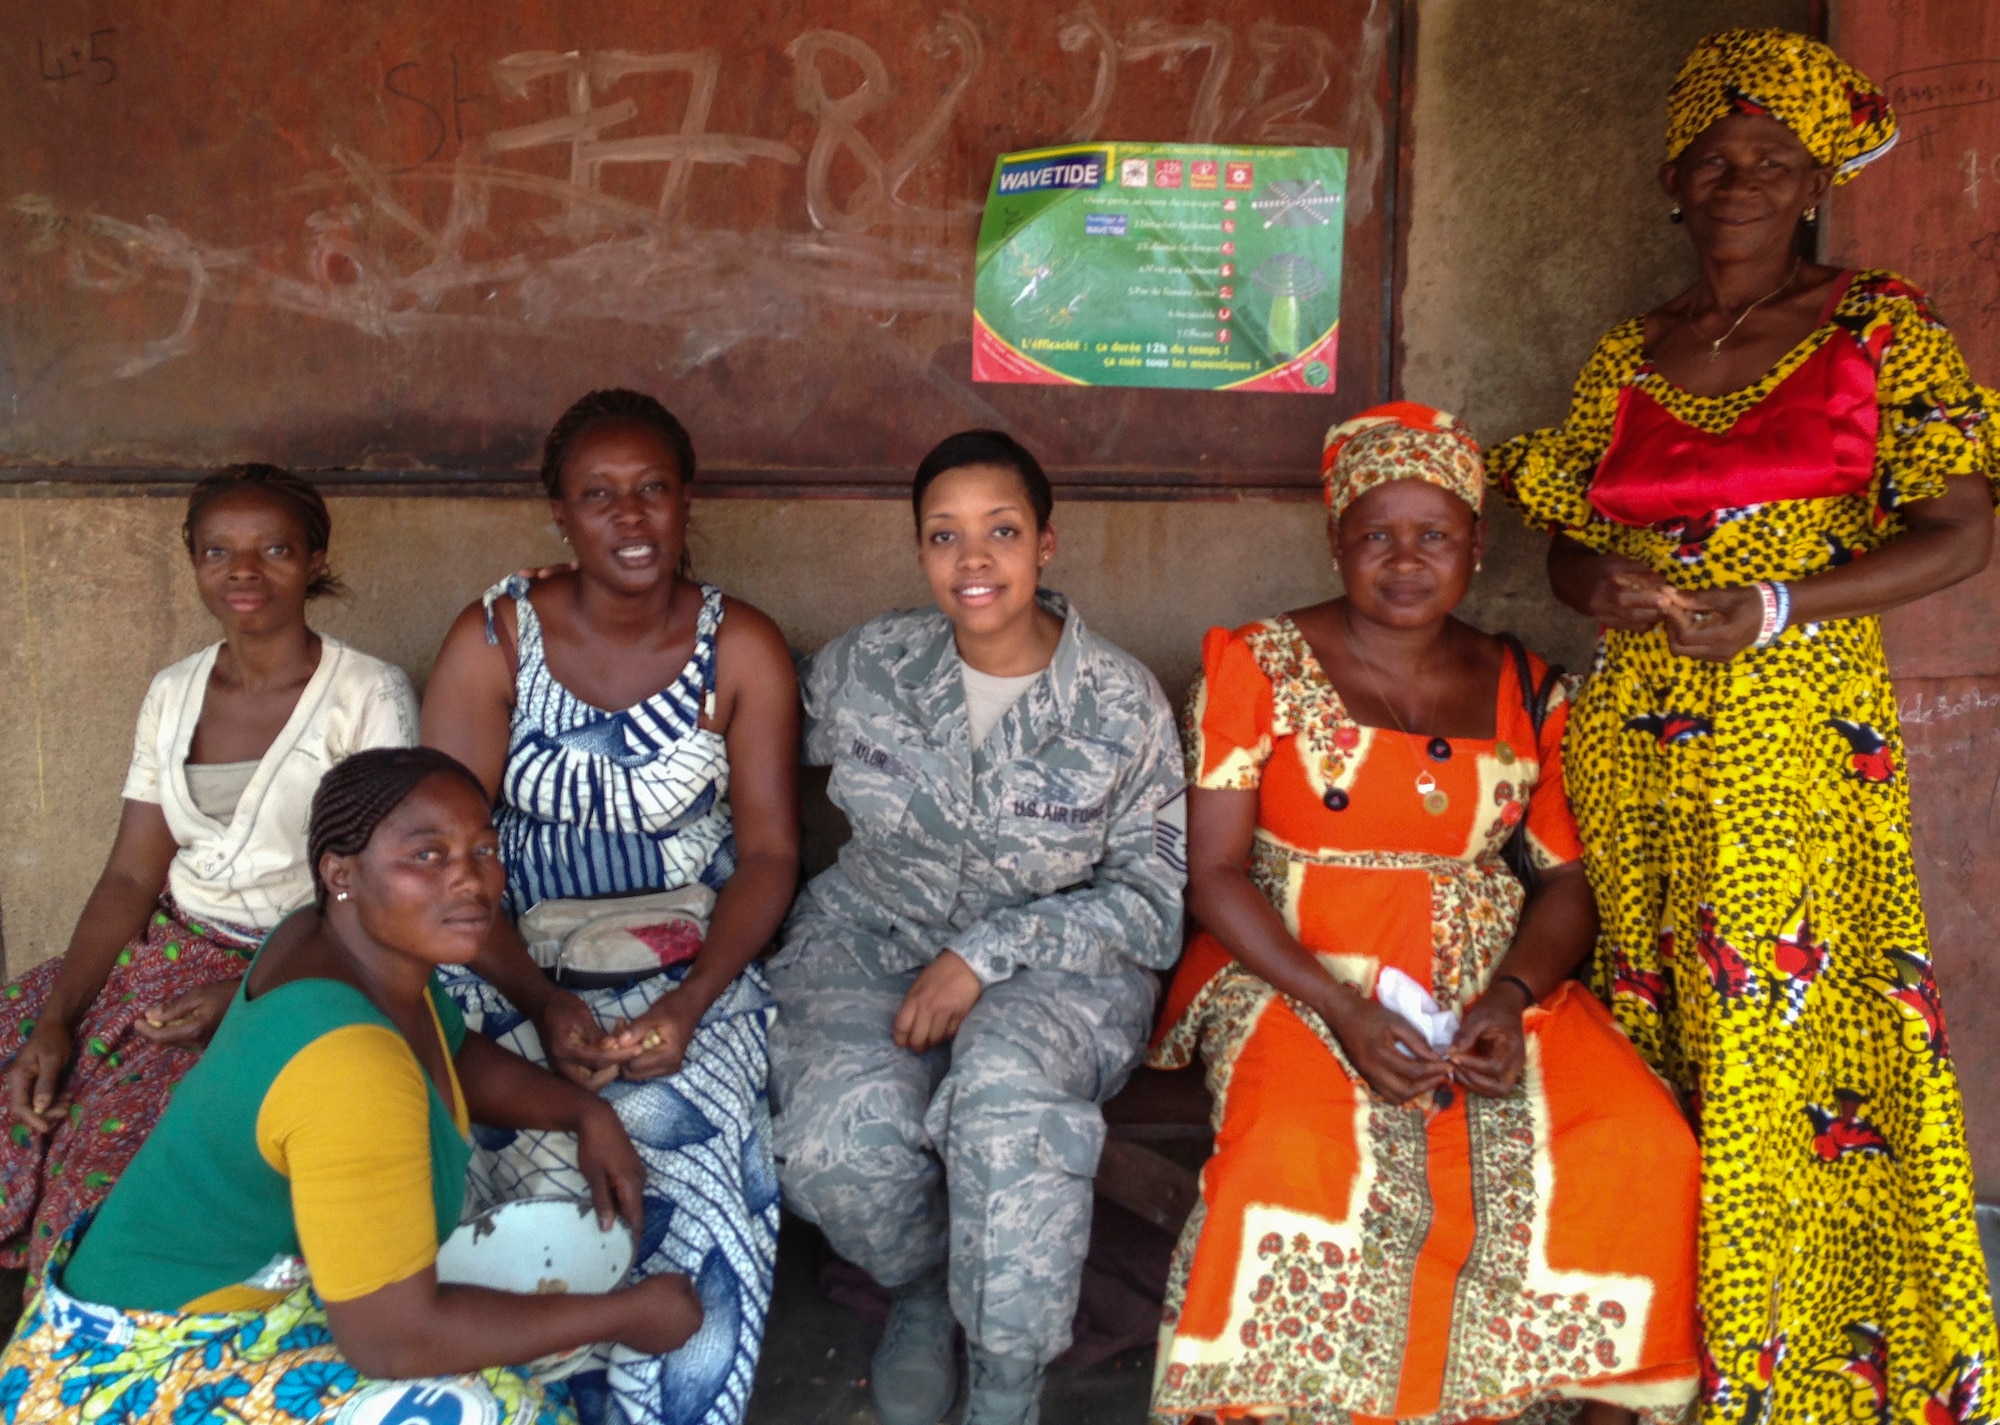
{"label": "seated woman in sleeveless blue and white patterned dress", "polygon": [[[680,1351],[610,1347],[572,1379],[586,1425],[734,1425],[778,1239],[774,1007],[754,959],[798,883],[798,684],[770,618],[682,572],[694,448],[660,402],[584,396],[550,430],[542,480],[574,568],[468,606],[424,694],[424,743],[498,803],[508,873],[510,919],[446,989],[470,1027],[612,1101],[646,1161],[638,1271],[686,1273],[702,1297]],[[716,893],[698,949],[640,931],[660,963],[592,989],[514,925],[692,887]],[[480,1205],[588,1191],[574,1139],[484,1131],[472,1189]]]}

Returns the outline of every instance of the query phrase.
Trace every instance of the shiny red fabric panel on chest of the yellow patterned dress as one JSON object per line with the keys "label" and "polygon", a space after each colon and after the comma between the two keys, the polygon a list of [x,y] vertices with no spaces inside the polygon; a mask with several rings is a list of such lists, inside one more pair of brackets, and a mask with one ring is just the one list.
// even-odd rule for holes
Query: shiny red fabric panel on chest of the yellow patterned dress
{"label": "shiny red fabric panel on chest of the yellow patterned dress", "polygon": [[1874,478],[1876,368],[1834,332],[1724,434],[1690,426],[1644,386],[1618,392],[1590,506],[1618,524],[1666,524],[1774,500],[1860,494]]}

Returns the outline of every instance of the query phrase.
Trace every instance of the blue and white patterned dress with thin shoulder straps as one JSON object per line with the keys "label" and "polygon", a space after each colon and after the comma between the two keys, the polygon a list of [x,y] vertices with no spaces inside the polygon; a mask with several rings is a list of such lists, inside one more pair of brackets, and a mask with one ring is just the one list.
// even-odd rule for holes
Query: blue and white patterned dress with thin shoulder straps
{"label": "blue and white patterned dress with thin shoulder straps", "polygon": [[[542,624],[518,574],[486,590],[514,598],[520,672],[506,771],[500,853],[508,911],[558,897],[618,897],[720,887],[736,865],[728,749],[700,727],[712,704],[722,592],[702,586],[694,656],[680,676],[622,712],[580,700],[548,670]],[[644,1013],[686,975],[676,967],[626,991],[582,991],[610,1029]],[[534,1023],[486,981],[446,969],[466,1023],[546,1063]],[[702,1297],[700,1333],[680,1351],[646,1357],[608,1347],[602,1369],[570,1379],[586,1425],[736,1425],[750,1401],[778,1255],[778,1179],[770,1159],[766,1037],[776,1015],[764,971],[746,969],[710,1007],[680,1073],[616,1079],[616,1107],[646,1163],[640,1277],[678,1271]],[[474,1129],[468,1211],[546,1193],[588,1195],[568,1133]]]}

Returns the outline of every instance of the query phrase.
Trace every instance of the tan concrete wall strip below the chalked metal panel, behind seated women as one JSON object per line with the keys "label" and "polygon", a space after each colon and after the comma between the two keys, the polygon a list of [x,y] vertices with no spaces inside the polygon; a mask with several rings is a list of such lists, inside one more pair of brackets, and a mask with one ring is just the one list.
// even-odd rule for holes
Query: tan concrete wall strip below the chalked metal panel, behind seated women
{"label": "tan concrete wall strip below the chalked metal panel, behind seated women", "polygon": [[[354,590],[314,626],[422,686],[452,616],[496,576],[564,558],[542,500],[336,498],[334,566]],[[0,917],[6,971],[62,951],[118,825],[132,717],[156,668],[216,636],[180,544],[178,500],[0,500]],[[924,602],[898,500],[704,500],[696,570],[816,648]],[[1176,694],[1210,622],[1326,598],[1324,520],[1306,502],[1062,504],[1048,584]]]}

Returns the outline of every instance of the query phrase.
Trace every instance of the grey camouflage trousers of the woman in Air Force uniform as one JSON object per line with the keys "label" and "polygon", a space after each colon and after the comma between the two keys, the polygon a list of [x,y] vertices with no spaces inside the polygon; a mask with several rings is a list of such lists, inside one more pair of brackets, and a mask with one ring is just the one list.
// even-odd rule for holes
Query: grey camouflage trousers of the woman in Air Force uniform
{"label": "grey camouflage trousers of the woman in Air Force uniform", "polygon": [[1070,1347],[1104,1099],[1146,1047],[1158,985],[1016,971],[928,1053],[890,1037],[916,971],[872,975],[826,943],[770,969],[772,1147],[784,1201],[884,1287],[946,1267],[988,1351]]}

